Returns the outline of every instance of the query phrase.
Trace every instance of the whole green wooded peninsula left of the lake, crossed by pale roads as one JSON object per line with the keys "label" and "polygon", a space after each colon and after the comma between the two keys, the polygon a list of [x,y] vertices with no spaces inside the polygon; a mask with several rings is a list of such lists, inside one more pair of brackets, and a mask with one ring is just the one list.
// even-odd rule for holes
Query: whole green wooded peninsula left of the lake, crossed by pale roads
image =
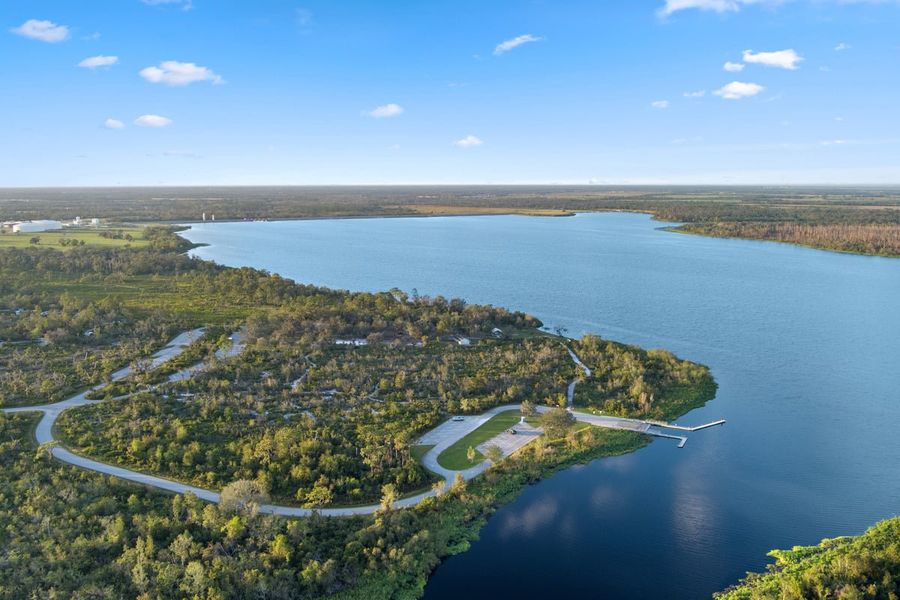
{"label": "whole green wooded peninsula left of the lake, crossed by pale roads", "polygon": [[[56,462],[29,434],[37,415],[0,414],[0,599],[415,597],[437,563],[465,550],[524,485],[647,443],[631,432],[563,428],[482,477],[393,510],[403,494],[433,485],[412,445],[449,414],[559,404],[578,376],[564,341],[502,308],[300,285],[191,259],[169,228],[149,239],[146,248],[0,252],[0,398],[51,402],[130,364],[131,377],[95,392],[102,402],[64,413],[57,433],[110,462],[221,489],[223,503]],[[174,333],[198,327],[205,333],[172,364],[142,368]],[[220,358],[231,332],[245,349]],[[616,372],[625,378],[610,388],[618,399],[633,376],[665,398],[685,372],[695,377],[694,405],[712,395],[698,365],[577,345],[592,361],[647,362]],[[196,363],[204,368],[193,377],[169,380]],[[590,401],[602,405],[603,393]],[[247,489],[258,494],[235,491]],[[257,514],[263,496],[383,509],[292,520]]]}

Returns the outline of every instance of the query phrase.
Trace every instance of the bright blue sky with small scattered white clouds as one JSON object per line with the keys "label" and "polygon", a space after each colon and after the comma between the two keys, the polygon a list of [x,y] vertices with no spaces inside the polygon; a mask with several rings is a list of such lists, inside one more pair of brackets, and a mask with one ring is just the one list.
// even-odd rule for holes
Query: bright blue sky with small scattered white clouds
{"label": "bright blue sky with small scattered white clouds", "polygon": [[0,186],[900,183],[898,32],[894,0],[3,0]]}

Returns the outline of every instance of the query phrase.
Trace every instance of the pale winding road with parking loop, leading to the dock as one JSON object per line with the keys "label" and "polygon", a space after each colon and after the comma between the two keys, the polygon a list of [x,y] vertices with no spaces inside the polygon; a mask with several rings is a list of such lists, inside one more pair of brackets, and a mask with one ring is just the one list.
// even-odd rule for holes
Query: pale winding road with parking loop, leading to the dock
{"label": "pale winding road with parking loop, leading to the dock", "polygon": [[[184,350],[195,341],[201,334],[203,333],[202,329],[195,329],[193,331],[188,331],[182,333],[177,336],[165,348],[157,352],[152,357],[151,368],[156,368],[161,366],[163,363],[172,360],[176,356],[180,355]],[[243,344],[241,343],[241,334],[235,333],[232,336],[232,346],[225,351],[219,351],[216,354],[220,358],[228,358],[231,356],[235,356],[239,354],[243,348]],[[568,349],[568,348],[567,348]],[[569,353],[572,355],[573,360],[582,367],[585,372],[590,376],[590,370],[581,364],[581,361],[575,356],[574,352],[569,350]],[[176,373],[175,375],[170,376],[170,381],[178,381],[181,379],[185,379],[194,373],[197,373],[198,370],[201,370],[203,367],[194,366],[189,367],[183,371]],[[113,374],[112,380],[119,381],[128,377],[131,374],[132,370],[130,367],[126,367],[121,369]],[[88,400],[85,396],[88,393],[101,389],[105,387],[107,384],[100,384],[94,386],[93,388],[84,391],[80,394],[72,396],[62,402],[57,402],[55,404],[48,404],[42,406],[25,406],[25,407],[17,407],[17,408],[5,408],[3,412],[5,413],[22,413],[22,412],[42,412],[44,416],[38,422],[37,428],[35,429],[35,438],[39,444],[46,444],[55,442],[56,440],[53,438],[53,424],[56,422],[56,419],[59,415],[70,408],[74,408],[77,406],[85,406],[88,404],[96,404],[100,402],[99,400]],[[572,393],[574,392],[575,383],[572,382],[569,386],[569,398],[571,401]],[[487,422],[491,417],[497,415],[501,412],[508,410],[517,410],[519,408],[518,404],[506,404],[503,406],[495,406],[494,408],[486,411],[485,413],[478,416],[470,416],[465,417],[463,421],[453,421],[448,420],[443,424],[437,426],[435,429],[426,433],[420,443],[425,443],[431,445],[434,443],[434,447],[429,450],[425,456],[422,457],[422,463],[426,468],[437,473],[441,477],[444,478],[443,487],[446,488],[448,482],[452,481],[457,474],[461,475],[463,479],[468,481],[473,477],[476,477],[486,471],[488,467],[491,466],[491,461],[485,459],[481,463],[471,467],[469,469],[465,469],[463,471],[453,471],[450,469],[445,469],[441,465],[438,464],[437,457],[449,448],[451,445],[456,443],[460,438],[468,435],[472,431],[478,429],[481,425]],[[539,406],[536,407],[538,412],[547,412],[550,410],[549,407]],[[708,423],[706,425],[701,425],[698,427],[681,427],[678,425],[670,425],[668,423],[658,423],[651,421],[641,421],[637,419],[625,419],[621,417],[608,417],[602,415],[592,415],[583,412],[571,411],[574,417],[578,421],[583,421],[586,423],[590,423],[591,425],[595,425],[597,427],[606,427],[610,429],[625,429],[629,431],[635,431],[638,433],[644,433],[647,435],[653,435],[657,437],[666,437],[666,438],[674,438],[680,440],[679,447],[684,445],[684,442],[687,441],[687,438],[682,435],[672,435],[665,433],[663,430],[666,429],[678,429],[682,431],[696,431],[698,429],[703,429],[705,427],[710,427],[712,425],[719,425],[724,423],[724,421],[717,421],[715,423]],[[69,463],[76,467],[80,467],[82,469],[86,469],[89,471],[96,471],[98,473],[103,473],[105,475],[111,475],[113,477],[118,477],[119,479],[124,479],[126,481],[132,481],[134,483],[140,483],[143,485],[148,485],[151,487],[155,487],[161,490],[165,490],[168,492],[174,492],[177,494],[186,494],[188,492],[194,494],[198,498],[202,498],[203,500],[207,500],[209,502],[219,502],[219,494],[217,492],[213,492],[210,490],[206,490],[203,488],[199,488],[193,485],[188,485],[185,483],[180,483],[177,481],[172,481],[171,479],[165,479],[162,477],[156,477],[154,475],[147,475],[145,473],[140,473],[138,471],[132,471],[131,469],[126,469],[123,467],[117,467],[115,465],[110,465],[107,463],[99,462],[85,456],[81,456],[79,454],[75,454],[71,450],[64,448],[62,446],[54,446],[51,448],[51,453],[54,458],[57,458],[63,462]],[[395,507],[403,508],[409,506],[415,506],[425,498],[430,496],[437,495],[436,490],[429,490],[427,492],[423,492],[421,494],[417,494],[415,496],[410,496],[408,498],[403,498],[394,503]],[[260,507],[261,513],[271,514],[271,515],[280,515],[285,517],[308,517],[312,515],[314,512],[320,515],[325,516],[333,516],[333,517],[346,517],[351,515],[366,515],[372,514],[380,509],[380,504],[370,504],[366,506],[353,506],[353,507],[344,507],[344,508],[299,508],[294,506],[280,506],[277,504],[264,504]]]}

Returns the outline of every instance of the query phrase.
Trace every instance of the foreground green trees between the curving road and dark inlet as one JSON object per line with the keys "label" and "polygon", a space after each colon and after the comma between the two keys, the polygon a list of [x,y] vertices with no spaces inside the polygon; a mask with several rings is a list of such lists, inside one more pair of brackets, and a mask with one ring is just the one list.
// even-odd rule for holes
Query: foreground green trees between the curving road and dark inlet
{"label": "foreground green trees between the curving road and dark inlet", "polygon": [[538,440],[415,508],[283,519],[227,510],[57,463],[33,415],[0,414],[0,599],[411,598],[485,518],[556,469],[640,448],[590,428]]}

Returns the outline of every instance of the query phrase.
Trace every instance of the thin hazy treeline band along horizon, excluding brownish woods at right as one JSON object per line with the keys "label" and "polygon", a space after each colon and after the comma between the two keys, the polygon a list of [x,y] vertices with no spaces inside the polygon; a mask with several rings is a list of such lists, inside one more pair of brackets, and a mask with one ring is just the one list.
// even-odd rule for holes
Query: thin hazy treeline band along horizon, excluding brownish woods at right
{"label": "thin hazy treeline band along horizon, excluding brownish woods at right", "polygon": [[[0,217],[197,221],[414,214],[416,206],[638,210],[672,221],[898,223],[900,188],[378,186],[0,189]],[[859,214],[866,208],[872,215]],[[891,216],[893,214],[893,216]]]}

